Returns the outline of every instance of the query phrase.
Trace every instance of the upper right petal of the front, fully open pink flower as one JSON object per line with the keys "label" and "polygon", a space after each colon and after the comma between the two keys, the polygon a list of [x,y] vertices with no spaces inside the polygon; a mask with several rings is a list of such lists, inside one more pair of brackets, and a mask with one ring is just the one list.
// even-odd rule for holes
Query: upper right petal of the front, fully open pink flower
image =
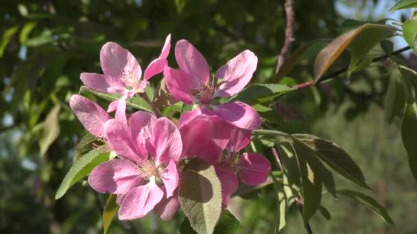
{"label": "upper right petal of the front, fully open pink flower", "polygon": [[170,159],[178,161],[182,153],[181,134],[171,120],[163,117],[152,126],[152,136],[148,152],[154,157],[156,164],[164,164]]}

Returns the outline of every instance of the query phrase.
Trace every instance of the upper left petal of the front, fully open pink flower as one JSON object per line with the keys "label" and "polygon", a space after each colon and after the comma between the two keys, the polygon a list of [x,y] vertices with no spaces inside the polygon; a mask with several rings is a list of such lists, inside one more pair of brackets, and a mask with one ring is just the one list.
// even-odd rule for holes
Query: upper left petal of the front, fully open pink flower
{"label": "upper left petal of the front, fully open pink flower", "polygon": [[141,144],[136,144],[130,129],[123,122],[108,120],[106,125],[104,125],[104,131],[106,131],[106,138],[110,147],[117,155],[130,159],[136,162],[136,164],[139,164],[141,159],[147,158],[146,150]]}

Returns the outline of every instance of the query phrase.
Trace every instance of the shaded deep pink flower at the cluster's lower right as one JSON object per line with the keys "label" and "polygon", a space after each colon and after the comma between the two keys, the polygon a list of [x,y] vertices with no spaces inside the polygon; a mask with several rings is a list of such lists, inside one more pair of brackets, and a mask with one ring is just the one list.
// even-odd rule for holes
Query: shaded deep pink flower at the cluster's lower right
{"label": "shaded deep pink flower at the cluster's lower right", "polygon": [[[268,159],[258,153],[239,154],[250,143],[251,131],[239,129],[218,116],[206,116],[199,109],[183,114],[180,133],[184,157],[198,157],[215,166],[222,183],[222,207],[239,187],[237,175],[247,185],[259,185],[271,171]],[[222,155],[224,150],[226,155]]]}

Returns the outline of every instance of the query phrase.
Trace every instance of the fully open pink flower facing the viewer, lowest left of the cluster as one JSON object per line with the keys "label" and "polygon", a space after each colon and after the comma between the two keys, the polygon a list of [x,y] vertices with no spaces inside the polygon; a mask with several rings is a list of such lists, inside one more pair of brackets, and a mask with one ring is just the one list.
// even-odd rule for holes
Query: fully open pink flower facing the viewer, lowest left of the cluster
{"label": "fully open pink flower facing the viewer, lowest left of the cluster", "polygon": [[127,123],[108,120],[104,129],[112,150],[121,158],[94,168],[88,176],[91,187],[118,195],[120,220],[141,218],[152,209],[164,219],[174,216],[179,208],[176,163],[182,153],[180,131],[174,123],[135,112]]}

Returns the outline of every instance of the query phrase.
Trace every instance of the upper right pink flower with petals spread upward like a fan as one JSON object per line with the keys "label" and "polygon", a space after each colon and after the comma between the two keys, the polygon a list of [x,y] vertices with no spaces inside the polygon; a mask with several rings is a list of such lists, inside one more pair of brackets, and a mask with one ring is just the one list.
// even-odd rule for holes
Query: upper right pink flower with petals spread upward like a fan
{"label": "upper right pink flower with petals spread upward like a fan", "polygon": [[[202,54],[187,40],[180,40],[175,47],[175,57],[180,68],[164,69],[169,92],[186,104],[198,104],[208,116],[218,116],[242,129],[258,129],[261,118],[257,112],[240,101],[215,105],[216,97],[233,96],[250,81],[257,68],[257,56],[243,51],[224,64],[215,77],[210,77],[209,68]],[[217,81],[222,81],[218,83]]]}

